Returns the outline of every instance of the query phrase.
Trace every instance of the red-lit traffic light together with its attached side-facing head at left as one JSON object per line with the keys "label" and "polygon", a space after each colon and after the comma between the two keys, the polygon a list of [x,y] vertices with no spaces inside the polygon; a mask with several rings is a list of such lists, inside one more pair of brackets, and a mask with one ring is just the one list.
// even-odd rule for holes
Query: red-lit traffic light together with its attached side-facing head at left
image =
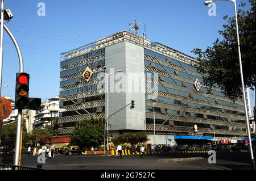
{"label": "red-lit traffic light together with its attached side-facing head at left", "polygon": [[16,73],[15,109],[37,110],[41,105],[41,99],[29,98],[30,74]]}

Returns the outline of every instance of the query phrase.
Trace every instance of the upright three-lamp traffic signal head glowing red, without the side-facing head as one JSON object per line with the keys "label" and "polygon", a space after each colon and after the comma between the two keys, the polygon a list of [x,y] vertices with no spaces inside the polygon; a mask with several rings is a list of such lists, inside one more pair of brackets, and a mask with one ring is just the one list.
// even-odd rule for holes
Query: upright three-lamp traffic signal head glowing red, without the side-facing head
{"label": "upright three-lamp traffic signal head glowing red, without the side-facing head", "polygon": [[30,75],[16,73],[15,109],[27,109]]}

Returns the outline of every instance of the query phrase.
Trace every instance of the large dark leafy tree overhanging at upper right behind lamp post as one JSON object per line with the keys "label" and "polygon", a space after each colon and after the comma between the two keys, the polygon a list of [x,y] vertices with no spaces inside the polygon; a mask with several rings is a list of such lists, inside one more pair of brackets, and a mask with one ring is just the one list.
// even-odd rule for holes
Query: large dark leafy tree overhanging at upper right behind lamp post
{"label": "large dark leafy tree overhanging at upper right behind lamp post", "polygon": [[[238,10],[238,27],[240,33],[240,48],[243,66],[243,79],[246,87],[254,90],[255,87],[255,0],[249,0],[248,10]],[[245,7],[241,3],[240,7]],[[205,52],[193,49],[197,54],[197,70],[204,74],[204,83],[209,92],[217,84],[225,96],[233,101],[242,98],[241,75],[238,62],[237,32],[235,17],[224,17],[227,24],[224,30],[218,31],[223,36],[217,39],[212,47]]]}

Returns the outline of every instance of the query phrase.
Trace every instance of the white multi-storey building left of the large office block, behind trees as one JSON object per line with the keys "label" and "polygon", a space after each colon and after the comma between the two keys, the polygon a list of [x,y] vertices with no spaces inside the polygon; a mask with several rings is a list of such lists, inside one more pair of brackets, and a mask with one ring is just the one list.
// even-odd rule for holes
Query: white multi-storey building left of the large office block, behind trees
{"label": "white multi-storey building left of the large office block, behind trees", "polygon": [[51,125],[52,120],[59,117],[59,96],[42,103],[34,117],[33,130],[44,129],[46,125]]}

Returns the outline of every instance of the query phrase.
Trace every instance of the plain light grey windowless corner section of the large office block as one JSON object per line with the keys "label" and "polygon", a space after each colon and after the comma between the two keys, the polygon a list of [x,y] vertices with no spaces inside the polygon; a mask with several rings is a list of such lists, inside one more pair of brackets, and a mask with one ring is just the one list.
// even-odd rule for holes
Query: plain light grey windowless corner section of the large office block
{"label": "plain light grey windowless corner section of the large office block", "polygon": [[[127,75],[133,76],[134,73],[144,72],[144,60],[143,60],[143,48],[129,42],[123,41],[105,49],[105,65],[109,73],[112,73],[109,77],[109,116],[120,108],[131,103],[131,100],[135,101],[135,108],[132,110],[130,106],[127,106],[120,112],[116,113],[109,119],[111,127],[110,131],[123,130],[123,129],[134,129],[144,130],[144,121],[146,117],[145,110],[145,99],[144,99],[144,76],[142,81],[138,85],[134,83],[134,78]],[[118,70],[122,70],[118,73]],[[117,74],[118,73],[118,74]],[[144,74],[142,74],[144,75]],[[119,87],[119,84],[122,87]],[[141,87],[138,92],[129,90],[131,86]],[[118,88],[121,88],[119,92]],[[108,96],[105,93],[106,101]],[[106,103],[107,104],[107,103]],[[108,107],[105,108],[105,112],[108,112]],[[108,115],[105,114],[105,119]]]}

